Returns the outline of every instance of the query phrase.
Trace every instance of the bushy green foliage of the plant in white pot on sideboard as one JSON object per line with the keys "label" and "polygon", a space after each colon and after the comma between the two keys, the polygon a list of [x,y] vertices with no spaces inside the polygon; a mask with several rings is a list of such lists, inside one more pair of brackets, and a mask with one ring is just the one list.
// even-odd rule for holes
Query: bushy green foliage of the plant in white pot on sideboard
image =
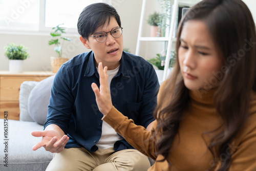
{"label": "bushy green foliage of the plant in white pot on sideboard", "polygon": [[5,56],[8,59],[24,60],[29,57],[28,48],[23,45],[8,44],[5,49]]}

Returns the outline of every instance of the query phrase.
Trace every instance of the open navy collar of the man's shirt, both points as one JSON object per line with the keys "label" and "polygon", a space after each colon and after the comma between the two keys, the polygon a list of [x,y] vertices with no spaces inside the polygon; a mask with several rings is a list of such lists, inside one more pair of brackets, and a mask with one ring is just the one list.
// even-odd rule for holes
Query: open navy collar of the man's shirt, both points
{"label": "open navy collar of the man's shirt, both points", "polygon": [[[119,68],[119,71],[116,76],[119,76],[120,74],[122,74],[124,77],[130,78],[129,71],[127,70],[126,65],[125,65],[124,55],[125,54],[123,53],[122,57],[120,59],[120,68]],[[96,66],[94,63],[94,53],[91,51],[91,54],[90,54],[89,60],[88,60],[87,69],[83,76],[90,77],[93,74],[95,74],[99,78],[99,74],[97,72],[97,69],[96,69]]]}

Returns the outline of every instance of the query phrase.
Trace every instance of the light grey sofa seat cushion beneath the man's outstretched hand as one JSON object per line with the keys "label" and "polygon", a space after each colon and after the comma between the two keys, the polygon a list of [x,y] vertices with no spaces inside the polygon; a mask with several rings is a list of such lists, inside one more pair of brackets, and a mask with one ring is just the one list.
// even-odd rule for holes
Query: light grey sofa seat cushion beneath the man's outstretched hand
{"label": "light grey sofa seat cushion beneath the man's outstretched hand", "polygon": [[[0,119],[0,125],[4,125],[4,119]],[[1,160],[0,170],[19,170],[28,171],[36,170],[43,171],[53,158],[53,154],[46,151],[44,147],[32,150],[32,147],[40,142],[41,137],[33,137],[32,131],[42,131],[44,126],[37,124],[36,122],[8,120],[8,147],[5,146],[5,142],[0,143]],[[0,129],[0,135],[4,135],[4,129]],[[3,136],[4,137],[4,136]],[[7,149],[4,152],[4,149]],[[4,157],[8,156],[8,167],[4,166]]]}

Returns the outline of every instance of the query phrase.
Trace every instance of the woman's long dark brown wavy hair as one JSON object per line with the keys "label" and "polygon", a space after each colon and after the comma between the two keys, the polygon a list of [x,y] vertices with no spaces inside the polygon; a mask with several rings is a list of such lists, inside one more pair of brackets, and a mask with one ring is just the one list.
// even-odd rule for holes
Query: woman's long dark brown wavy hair
{"label": "woman's long dark brown wavy hair", "polygon": [[[231,156],[221,158],[221,154],[226,153],[228,143],[247,121],[251,93],[256,90],[255,24],[248,7],[241,0],[201,1],[187,12],[179,24],[176,52],[180,47],[183,25],[188,20],[200,20],[206,24],[226,69],[214,99],[223,123],[218,130],[212,130],[216,134],[208,145],[213,158],[221,159],[218,171],[223,171],[230,166]],[[158,123],[153,137],[160,137],[156,143],[157,155],[162,155],[163,160],[172,153],[174,137],[178,135],[180,121],[189,105],[189,90],[184,85],[178,58],[177,54],[174,70],[159,94],[154,113]]]}

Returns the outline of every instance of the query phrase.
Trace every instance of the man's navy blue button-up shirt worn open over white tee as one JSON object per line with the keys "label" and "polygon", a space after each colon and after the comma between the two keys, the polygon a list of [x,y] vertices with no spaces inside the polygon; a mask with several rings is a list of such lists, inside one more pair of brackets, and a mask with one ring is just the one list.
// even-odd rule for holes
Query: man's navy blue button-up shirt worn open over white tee
{"label": "man's navy blue button-up shirt worn open over white tee", "polygon": [[[56,124],[70,139],[65,148],[84,147],[95,152],[101,137],[103,115],[98,110],[91,84],[99,86],[94,53],[82,53],[64,63],[52,86],[45,127]],[[154,121],[159,82],[153,66],[145,59],[123,52],[120,68],[111,81],[112,104],[123,115],[145,128]],[[133,148],[124,139],[114,149]]]}

